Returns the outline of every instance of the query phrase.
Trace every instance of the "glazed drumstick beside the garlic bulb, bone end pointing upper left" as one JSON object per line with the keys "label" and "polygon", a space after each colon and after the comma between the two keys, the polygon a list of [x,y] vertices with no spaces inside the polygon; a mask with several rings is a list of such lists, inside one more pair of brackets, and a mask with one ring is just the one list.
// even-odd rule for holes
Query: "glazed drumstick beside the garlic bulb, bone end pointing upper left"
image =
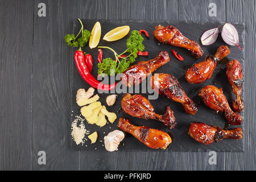
{"label": "glazed drumstick beside the garlic bulb, bone end pointing upper left", "polygon": [[171,137],[164,131],[151,129],[150,127],[146,126],[132,125],[129,119],[120,118],[117,127],[127,133],[130,133],[140,142],[144,143],[150,148],[166,149],[166,147],[172,143]]}

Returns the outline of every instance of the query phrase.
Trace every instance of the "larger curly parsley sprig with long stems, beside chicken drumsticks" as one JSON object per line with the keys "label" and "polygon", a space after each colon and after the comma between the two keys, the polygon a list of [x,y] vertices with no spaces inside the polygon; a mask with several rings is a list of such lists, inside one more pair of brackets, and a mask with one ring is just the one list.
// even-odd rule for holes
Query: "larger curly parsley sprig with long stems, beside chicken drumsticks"
{"label": "larger curly parsley sprig with long stems, beside chicken drumsticks", "polygon": [[[138,30],[131,31],[130,38],[126,41],[126,50],[118,55],[114,49],[106,46],[98,46],[98,48],[106,48],[110,49],[114,53],[115,60],[110,57],[98,63],[98,74],[102,75],[105,73],[106,75],[113,76],[118,73],[122,73],[126,71],[131,63],[134,63],[135,58],[138,56],[138,51],[143,51],[145,49],[143,45],[143,37],[139,34]],[[129,53],[126,57],[122,57],[125,53]],[[103,76],[103,75],[102,75]]]}

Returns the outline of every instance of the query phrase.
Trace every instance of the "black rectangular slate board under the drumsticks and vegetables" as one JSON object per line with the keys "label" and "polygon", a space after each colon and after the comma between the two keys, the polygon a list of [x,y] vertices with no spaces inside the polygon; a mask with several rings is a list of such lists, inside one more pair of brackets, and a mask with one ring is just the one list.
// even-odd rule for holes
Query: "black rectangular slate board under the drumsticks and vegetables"
{"label": "black rectangular slate board under the drumsticks and vegetables", "polygon": [[[119,108],[121,107],[121,100],[123,94],[117,94],[118,98],[115,102],[114,106],[109,107],[106,105],[106,97],[109,96],[109,94],[103,93],[99,94],[100,100],[102,105],[105,105],[107,107],[107,110],[113,111],[117,113],[117,120],[111,124],[107,123],[104,127],[98,127],[96,125],[89,125],[88,123],[84,123],[87,130],[90,131],[90,133],[93,133],[94,131],[97,131],[98,133],[98,139],[97,142],[94,144],[90,144],[90,140],[86,140],[84,145],[77,145],[75,142],[73,142],[73,139],[71,139],[71,148],[72,150],[102,150],[105,151],[104,147],[104,136],[107,135],[110,131],[113,131],[117,128],[117,122],[120,117],[126,117],[130,119],[130,122],[134,125],[139,126],[149,126],[154,129],[159,129],[166,131],[167,133],[171,134],[173,137],[173,141],[170,144],[170,146],[166,150],[158,150],[158,151],[243,151],[243,140],[232,140],[232,139],[224,139],[221,140],[218,143],[210,144],[209,146],[205,146],[204,144],[196,142],[194,139],[189,137],[188,133],[188,127],[191,122],[197,121],[197,122],[204,122],[209,125],[215,125],[219,127],[224,127],[227,123],[224,115],[222,113],[215,114],[212,109],[205,106],[203,101],[201,101],[201,98],[197,96],[199,93],[199,90],[203,88],[205,85],[214,85],[218,88],[222,88],[224,91],[224,94],[231,104],[234,100],[234,94],[232,93],[231,86],[228,84],[228,79],[225,75],[225,64],[228,60],[237,59],[240,61],[240,63],[243,66],[243,73],[245,72],[244,64],[244,51],[241,51],[235,46],[229,46],[230,48],[230,55],[227,56],[227,59],[222,60],[216,67],[216,70],[214,71],[212,78],[209,80],[203,82],[202,84],[189,84],[185,78],[185,71],[191,67],[192,64],[198,63],[200,61],[203,61],[205,56],[207,55],[214,55],[216,52],[216,49],[220,47],[221,45],[226,45],[225,42],[221,38],[221,34],[219,34],[217,42],[212,44],[211,46],[202,46],[200,43],[200,36],[203,34],[204,31],[209,30],[210,28],[217,27],[220,25],[220,32],[222,30],[222,26],[225,24],[224,22],[168,22],[168,21],[130,21],[130,20],[82,20],[84,23],[84,28],[88,30],[92,30],[92,27],[94,26],[94,23],[96,21],[99,21],[101,23],[101,38],[106,34],[106,32],[112,30],[115,27],[123,26],[123,25],[129,25],[130,30],[147,30],[150,34],[150,38],[144,38],[144,46],[146,47],[145,51],[149,52],[148,56],[138,56],[137,61],[144,61],[144,60],[150,60],[154,58],[159,51],[167,51],[170,55],[170,61],[163,65],[162,67],[158,68],[154,73],[169,73],[174,75],[180,82],[181,86],[183,86],[185,93],[190,97],[193,101],[196,102],[196,104],[199,105],[199,110],[195,115],[187,114],[185,113],[183,106],[181,104],[168,100],[166,97],[159,96],[158,100],[150,100],[151,104],[154,106],[156,113],[163,114],[165,111],[165,105],[169,104],[171,106],[171,109],[174,111],[174,115],[176,118],[177,126],[175,129],[168,130],[166,127],[162,125],[162,123],[148,119],[147,121],[144,119],[139,119],[135,117],[131,117],[130,115],[124,113],[121,111],[120,113],[117,113]],[[200,46],[203,48],[204,55],[200,59],[195,59],[191,55],[191,53],[183,48],[170,46],[167,44],[159,43],[158,40],[154,38],[154,27],[158,24],[162,24],[163,26],[167,26],[169,24],[172,24],[173,26],[177,27],[184,36],[187,36],[187,38],[196,40],[199,42]],[[238,35],[240,38],[240,44],[241,47],[244,46],[244,25],[241,23],[232,23],[238,31]],[[73,22],[73,30],[75,32],[78,32],[80,30],[80,23],[75,20]],[[106,42],[101,39],[99,46],[109,46],[112,47],[116,52],[121,53],[126,48],[126,39],[129,38],[128,34],[125,36],[125,38],[121,40],[117,40],[116,42]],[[184,61],[177,60],[174,55],[171,53],[171,49],[175,49],[180,55],[184,57]],[[93,71],[92,74],[94,77],[97,77],[97,57],[98,57],[98,48],[90,49],[88,46],[83,48],[83,51],[88,52],[93,57]],[[74,49],[75,52],[75,49]],[[106,57],[112,57],[113,53],[110,52],[108,49],[103,49],[103,59]],[[71,60],[73,61],[73,60]],[[76,104],[76,92],[79,88],[85,88],[88,89],[90,86],[87,84],[79,75],[79,72],[76,69],[75,62],[73,64],[73,77],[72,77],[72,111],[71,111],[71,122],[75,119],[75,115],[80,115],[80,107]],[[142,83],[143,85],[145,83]],[[243,90],[244,91],[244,90]],[[95,94],[97,91],[95,92]],[[244,93],[244,92],[242,92]],[[113,94],[113,93],[111,93]],[[137,93],[140,94],[140,93]],[[142,94],[144,97],[148,97],[148,93]],[[152,95],[152,94],[151,94]],[[242,94],[242,98],[243,94]],[[241,113],[242,117],[244,117],[244,111]],[[243,121],[243,124],[240,126],[243,129],[243,125],[246,123]],[[234,126],[230,126],[232,128]],[[246,132],[246,131],[244,131]],[[118,147],[118,151],[155,151],[154,149],[146,147],[144,144],[139,142],[137,139],[135,139],[132,135],[126,133],[125,139],[123,139],[123,145]]]}

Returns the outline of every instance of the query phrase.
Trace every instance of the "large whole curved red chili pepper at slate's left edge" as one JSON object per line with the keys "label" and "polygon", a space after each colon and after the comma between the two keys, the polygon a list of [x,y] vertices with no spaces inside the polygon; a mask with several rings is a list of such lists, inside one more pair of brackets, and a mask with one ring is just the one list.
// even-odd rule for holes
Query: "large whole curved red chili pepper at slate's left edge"
{"label": "large whole curved red chili pepper at slate's left edge", "polygon": [[111,85],[106,85],[102,84],[100,81],[96,80],[92,74],[90,74],[88,67],[85,64],[85,59],[84,59],[84,52],[77,50],[75,52],[75,62],[76,62],[76,67],[86,82],[93,86],[94,88],[100,89],[100,90],[112,90],[115,88],[118,82],[115,82],[114,84]]}

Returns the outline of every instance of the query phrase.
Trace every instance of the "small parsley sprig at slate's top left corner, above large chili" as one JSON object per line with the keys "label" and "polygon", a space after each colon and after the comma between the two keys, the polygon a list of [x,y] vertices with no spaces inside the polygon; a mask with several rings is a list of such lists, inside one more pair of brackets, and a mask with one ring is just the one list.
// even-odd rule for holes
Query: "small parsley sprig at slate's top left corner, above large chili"
{"label": "small parsley sprig at slate's top left corner, above large chili", "polygon": [[[79,33],[76,35],[76,37],[74,34],[65,35],[65,42],[67,42],[68,46],[84,47],[90,38],[90,31],[84,29],[84,25],[82,24],[82,21],[80,19],[78,19],[78,20],[81,24],[81,29],[80,29]],[[78,38],[76,41],[76,38],[80,34],[81,34],[80,38]]]}

